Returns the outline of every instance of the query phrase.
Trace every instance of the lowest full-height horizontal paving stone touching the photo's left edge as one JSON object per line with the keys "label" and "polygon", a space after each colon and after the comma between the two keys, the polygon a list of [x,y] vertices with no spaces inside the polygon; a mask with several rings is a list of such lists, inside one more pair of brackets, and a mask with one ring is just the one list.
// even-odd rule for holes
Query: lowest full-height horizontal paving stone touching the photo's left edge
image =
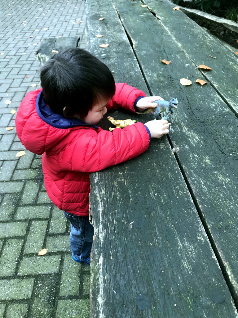
{"label": "lowest full-height horizontal paving stone touching the photo's left edge", "polygon": [[30,298],[33,285],[34,278],[0,280],[0,300]]}

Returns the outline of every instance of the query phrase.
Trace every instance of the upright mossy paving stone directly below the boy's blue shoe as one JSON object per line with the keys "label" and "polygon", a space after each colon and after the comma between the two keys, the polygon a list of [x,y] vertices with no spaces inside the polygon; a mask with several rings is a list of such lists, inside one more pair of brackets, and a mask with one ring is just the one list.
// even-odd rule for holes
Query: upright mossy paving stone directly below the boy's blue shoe
{"label": "upright mossy paving stone directly below the boy's blue shoe", "polygon": [[60,296],[79,295],[82,263],[75,262],[71,255],[65,255],[60,281]]}

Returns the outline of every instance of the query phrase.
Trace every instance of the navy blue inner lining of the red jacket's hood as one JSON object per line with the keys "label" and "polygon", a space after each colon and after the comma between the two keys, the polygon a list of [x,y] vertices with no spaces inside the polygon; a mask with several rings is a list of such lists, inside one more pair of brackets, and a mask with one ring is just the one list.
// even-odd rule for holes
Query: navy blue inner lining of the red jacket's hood
{"label": "navy blue inner lining of the red jacket's hood", "polygon": [[56,127],[56,128],[72,128],[76,126],[87,126],[87,127],[93,127],[98,128],[98,126],[95,125],[88,125],[85,122],[77,119],[77,118],[66,118],[63,115],[54,113],[49,106],[46,105],[43,92],[40,91],[36,98],[36,111],[37,114],[40,116],[40,118],[45,121],[50,126]]}

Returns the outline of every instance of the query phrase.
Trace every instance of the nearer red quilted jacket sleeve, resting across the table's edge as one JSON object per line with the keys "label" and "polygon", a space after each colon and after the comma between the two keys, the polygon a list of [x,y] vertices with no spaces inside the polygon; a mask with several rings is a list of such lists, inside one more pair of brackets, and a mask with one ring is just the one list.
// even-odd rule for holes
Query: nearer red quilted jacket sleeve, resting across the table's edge
{"label": "nearer red quilted jacket sleeve, resting across the table's edge", "polygon": [[139,156],[149,147],[149,134],[141,122],[113,132],[99,128],[82,129],[77,134],[81,135],[75,135],[57,154],[61,170],[99,171]]}

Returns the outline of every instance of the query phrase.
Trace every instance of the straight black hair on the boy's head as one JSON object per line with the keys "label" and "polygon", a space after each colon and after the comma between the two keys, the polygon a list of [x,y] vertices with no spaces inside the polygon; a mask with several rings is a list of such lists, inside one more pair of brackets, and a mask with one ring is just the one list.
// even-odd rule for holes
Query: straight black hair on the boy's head
{"label": "straight black hair on the boy's head", "polygon": [[41,68],[40,78],[49,107],[68,118],[75,114],[87,116],[100,98],[108,100],[115,94],[115,81],[109,68],[79,48],[55,54]]}

